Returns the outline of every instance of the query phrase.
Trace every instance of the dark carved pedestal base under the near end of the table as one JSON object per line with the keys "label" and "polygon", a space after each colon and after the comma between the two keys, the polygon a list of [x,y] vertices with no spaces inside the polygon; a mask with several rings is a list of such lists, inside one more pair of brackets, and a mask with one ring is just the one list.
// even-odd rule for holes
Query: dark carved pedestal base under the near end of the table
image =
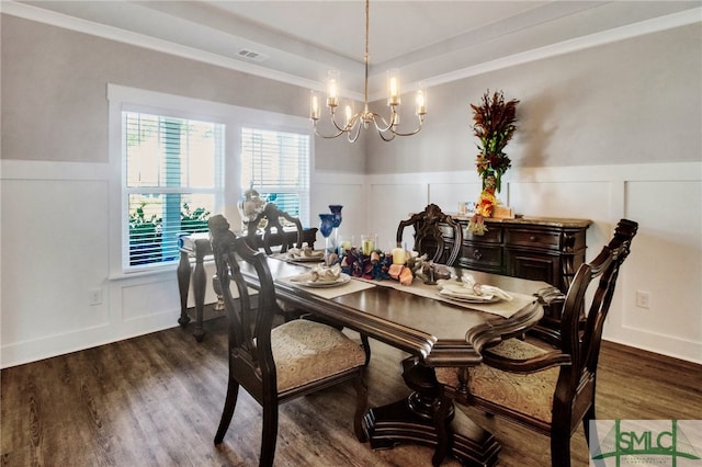
{"label": "dark carved pedestal base under the near end of the table", "polygon": [[404,364],[404,378],[415,390],[408,398],[373,408],[365,417],[371,447],[393,448],[399,443],[434,447],[432,464],[439,466],[446,455],[465,465],[494,466],[500,445],[476,425],[453,400],[444,397],[433,368],[414,360]]}

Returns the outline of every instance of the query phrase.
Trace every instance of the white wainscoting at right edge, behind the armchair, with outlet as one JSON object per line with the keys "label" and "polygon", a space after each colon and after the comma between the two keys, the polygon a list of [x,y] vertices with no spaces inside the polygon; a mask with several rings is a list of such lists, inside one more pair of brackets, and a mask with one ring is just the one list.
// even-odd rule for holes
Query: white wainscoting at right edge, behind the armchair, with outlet
{"label": "white wainscoting at right edge, behind the armchair, with outlet", "polygon": [[[637,346],[676,354],[697,346],[702,360],[702,185],[699,181],[626,183],[627,216],[639,234],[627,260],[627,291],[622,329]],[[649,294],[648,308],[636,293]]]}

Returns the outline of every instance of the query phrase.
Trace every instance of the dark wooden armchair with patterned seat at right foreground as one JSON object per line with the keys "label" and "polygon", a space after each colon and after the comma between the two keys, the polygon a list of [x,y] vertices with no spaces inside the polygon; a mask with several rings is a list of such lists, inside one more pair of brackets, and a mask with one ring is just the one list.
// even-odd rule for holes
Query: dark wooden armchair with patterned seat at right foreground
{"label": "dark wooden armchair with patterned seat at right foreground", "polygon": [[437,369],[456,400],[550,436],[553,467],[570,465],[570,437],[580,422],[589,441],[602,327],[637,229],[622,219],[609,244],[578,269],[565,297],[558,349],[509,339],[484,349],[483,364],[474,368]]}

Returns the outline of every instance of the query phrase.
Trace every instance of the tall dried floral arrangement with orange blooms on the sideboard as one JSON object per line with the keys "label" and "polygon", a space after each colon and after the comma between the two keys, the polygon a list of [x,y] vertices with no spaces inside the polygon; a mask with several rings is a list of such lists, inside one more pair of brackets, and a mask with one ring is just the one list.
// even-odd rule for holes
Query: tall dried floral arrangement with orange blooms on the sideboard
{"label": "tall dried floral arrangement with orange blooms on the sideboard", "polygon": [[517,129],[518,100],[505,102],[502,91],[490,91],[483,94],[479,105],[471,104],[473,109],[473,132],[478,138],[480,152],[475,166],[483,180],[483,191],[475,206],[475,214],[468,223],[468,230],[476,235],[485,235],[484,218],[490,217],[499,204],[497,194],[502,187],[502,175],[512,164],[509,156],[503,151],[512,139]]}

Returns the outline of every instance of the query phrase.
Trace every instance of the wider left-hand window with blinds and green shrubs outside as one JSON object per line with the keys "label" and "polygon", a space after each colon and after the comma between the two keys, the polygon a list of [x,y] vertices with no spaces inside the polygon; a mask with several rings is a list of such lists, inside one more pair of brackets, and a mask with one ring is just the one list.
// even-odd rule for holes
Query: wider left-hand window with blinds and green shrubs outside
{"label": "wider left-hand window with blinds and green shrubs outside", "polygon": [[[172,263],[220,205],[225,125],[122,112],[124,270]],[[128,247],[128,248],[127,248]]]}

